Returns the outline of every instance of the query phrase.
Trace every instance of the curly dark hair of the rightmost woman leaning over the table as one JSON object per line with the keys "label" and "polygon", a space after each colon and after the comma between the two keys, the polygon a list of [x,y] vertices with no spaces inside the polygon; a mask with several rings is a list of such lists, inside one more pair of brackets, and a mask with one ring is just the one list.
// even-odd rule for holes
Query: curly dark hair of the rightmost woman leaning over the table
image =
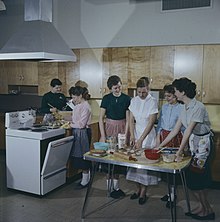
{"label": "curly dark hair of the rightmost woman leaning over the table", "polygon": [[185,95],[190,99],[196,96],[196,84],[186,77],[175,79],[172,85],[180,92],[185,92]]}

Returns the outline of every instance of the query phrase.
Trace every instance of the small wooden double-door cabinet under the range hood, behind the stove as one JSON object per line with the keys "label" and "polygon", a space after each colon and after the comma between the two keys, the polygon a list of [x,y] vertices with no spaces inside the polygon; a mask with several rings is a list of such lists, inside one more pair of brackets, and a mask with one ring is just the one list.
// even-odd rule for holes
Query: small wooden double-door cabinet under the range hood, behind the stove
{"label": "small wooden double-door cabinet under the range hood, behind the stove", "polygon": [[24,61],[5,62],[8,85],[38,85],[38,63]]}

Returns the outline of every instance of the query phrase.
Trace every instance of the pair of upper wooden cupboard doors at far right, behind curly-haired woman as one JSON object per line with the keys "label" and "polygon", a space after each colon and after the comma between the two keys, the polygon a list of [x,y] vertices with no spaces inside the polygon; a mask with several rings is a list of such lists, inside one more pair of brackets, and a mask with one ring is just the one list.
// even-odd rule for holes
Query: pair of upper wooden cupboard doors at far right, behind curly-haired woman
{"label": "pair of upper wooden cupboard doors at far right, behind curly-haired woman", "polygon": [[175,47],[174,79],[187,77],[197,85],[197,99],[220,104],[220,45]]}

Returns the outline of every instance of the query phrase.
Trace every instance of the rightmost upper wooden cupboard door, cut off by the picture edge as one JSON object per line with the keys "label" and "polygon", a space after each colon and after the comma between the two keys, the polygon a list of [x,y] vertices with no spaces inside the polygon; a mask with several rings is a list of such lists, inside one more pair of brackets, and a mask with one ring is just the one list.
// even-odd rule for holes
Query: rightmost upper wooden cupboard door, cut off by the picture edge
{"label": "rightmost upper wooden cupboard door, cut off by the picture edge", "polygon": [[203,92],[204,103],[219,104],[220,45],[204,45]]}

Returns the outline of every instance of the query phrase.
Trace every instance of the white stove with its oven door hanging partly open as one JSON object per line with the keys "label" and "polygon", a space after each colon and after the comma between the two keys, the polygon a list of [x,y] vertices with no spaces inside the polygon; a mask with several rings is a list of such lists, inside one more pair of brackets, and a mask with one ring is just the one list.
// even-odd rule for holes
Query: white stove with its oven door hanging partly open
{"label": "white stove with its oven door hanging partly open", "polygon": [[7,187],[44,195],[64,184],[73,136],[64,137],[65,130],[60,128],[34,128],[34,110],[5,117]]}

